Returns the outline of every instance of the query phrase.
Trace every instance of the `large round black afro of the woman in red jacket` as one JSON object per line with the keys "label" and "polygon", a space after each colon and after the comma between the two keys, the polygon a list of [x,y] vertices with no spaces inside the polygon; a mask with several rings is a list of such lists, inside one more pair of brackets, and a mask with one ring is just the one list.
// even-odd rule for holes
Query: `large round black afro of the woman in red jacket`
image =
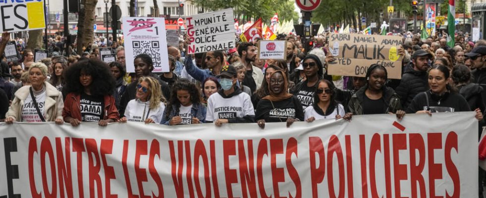
{"label": "large round black afro of the woman in red jacket", "polygon": [[81,94],[84,87],[79,81],[81,74],[91,75],[92,83],[89,85],[91,95],[110,95],[115,89],[115,79],[110,72],[108,65],[100,60],[89,59],[78,61],[68,67],[65,73],[66,93]]}

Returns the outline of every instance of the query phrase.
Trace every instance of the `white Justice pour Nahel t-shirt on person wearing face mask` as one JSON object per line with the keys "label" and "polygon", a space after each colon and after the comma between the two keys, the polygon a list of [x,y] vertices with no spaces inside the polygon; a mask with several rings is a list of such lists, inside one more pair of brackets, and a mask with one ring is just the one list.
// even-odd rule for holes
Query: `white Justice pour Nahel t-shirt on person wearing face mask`
{"label": "white Justice pour Nahel t-shirt on person wearing face mask", "polygon": [[255,115],[250,96],[241,93],[225,99],[219,93],[213,94],[208,99],[208,111],[206,121],[214,122],[217,119],[230,119]]}

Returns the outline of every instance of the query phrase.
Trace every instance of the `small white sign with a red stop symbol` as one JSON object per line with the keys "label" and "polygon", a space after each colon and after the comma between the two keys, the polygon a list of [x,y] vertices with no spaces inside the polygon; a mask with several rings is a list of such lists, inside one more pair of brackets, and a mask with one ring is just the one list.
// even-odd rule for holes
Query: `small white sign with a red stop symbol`
{"label": "small white sign with a red stop symbol", "polygon": [[286,41],[258,41],[258,57],[260,59],[286,59]]}

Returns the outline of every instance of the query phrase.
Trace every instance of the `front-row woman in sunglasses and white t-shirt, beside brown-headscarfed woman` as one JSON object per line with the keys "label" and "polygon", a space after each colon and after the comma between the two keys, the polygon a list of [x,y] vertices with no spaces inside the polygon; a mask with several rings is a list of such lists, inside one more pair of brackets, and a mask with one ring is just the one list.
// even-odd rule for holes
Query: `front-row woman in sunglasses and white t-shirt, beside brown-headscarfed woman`
{"label": "front-row woman in sunglasses and white t-shirt, beside brown-headscarfed woman", "polygon": [[336,87],[328,80],[320,80],[314,93],[314,103],[305,108],[304,120],[313,122],[322,119],[350,119],[351,113],[346,113],[344,106],[336,102]]}

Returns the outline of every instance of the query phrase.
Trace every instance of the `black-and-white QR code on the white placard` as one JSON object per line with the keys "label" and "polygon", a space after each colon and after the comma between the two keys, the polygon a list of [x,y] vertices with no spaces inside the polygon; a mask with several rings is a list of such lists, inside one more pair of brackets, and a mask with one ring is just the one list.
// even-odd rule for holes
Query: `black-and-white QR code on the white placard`
{"label": "black-and-white QR code on the white placard", "polygon": [[133,56],[145,53],[152,57],[154,68],[161,66],[161,54],[159,41],[132,41]]}

